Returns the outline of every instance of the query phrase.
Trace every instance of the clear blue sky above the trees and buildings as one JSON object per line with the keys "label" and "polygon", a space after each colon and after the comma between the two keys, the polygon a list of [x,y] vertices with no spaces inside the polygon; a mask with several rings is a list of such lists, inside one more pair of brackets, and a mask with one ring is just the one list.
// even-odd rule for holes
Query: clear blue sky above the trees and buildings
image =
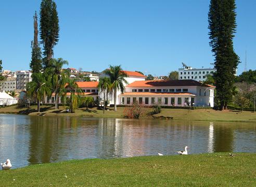
{"label": "clear blue sky above the trees and buildings", "polygon": [[[57,0],[60,39],[54,57],[69,67],[101,71],[121,64],[154,76],[182,67],[211,67],[207,0]],[[33,14],[40,0],[0,2],[0,59],[4,69],[29,69]],[[256,1],[237,0],[234,48],[238,74],[256,69]]]}

